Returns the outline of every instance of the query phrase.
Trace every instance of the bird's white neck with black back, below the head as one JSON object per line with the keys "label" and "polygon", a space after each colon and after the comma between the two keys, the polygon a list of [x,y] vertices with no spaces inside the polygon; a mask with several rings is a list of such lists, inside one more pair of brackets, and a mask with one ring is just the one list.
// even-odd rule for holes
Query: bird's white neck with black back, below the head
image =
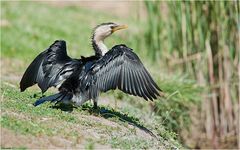
{"label": "bird's white neck with black back, below the head", "polygon": [[100,37],[96,37],[95,34],[92,37],[92,46],[93,49],[95,50],[95,55],[96,56],[104,56],[108,48],[107,46],[103,43],[103,40]]}

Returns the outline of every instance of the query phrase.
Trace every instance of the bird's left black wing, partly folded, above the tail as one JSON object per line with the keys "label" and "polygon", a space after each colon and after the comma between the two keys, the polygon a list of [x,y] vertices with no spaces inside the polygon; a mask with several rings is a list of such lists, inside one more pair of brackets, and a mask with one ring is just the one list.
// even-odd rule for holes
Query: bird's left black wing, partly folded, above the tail
{"label": "bird's left black wing, partly folded, above the tail", "polygon": [[20,81],[20,89],[24,91],[37,83],[44,93],[49,87],[61,84],[79,63],[67,55],[65,41],[55,41],[28,66]]}

